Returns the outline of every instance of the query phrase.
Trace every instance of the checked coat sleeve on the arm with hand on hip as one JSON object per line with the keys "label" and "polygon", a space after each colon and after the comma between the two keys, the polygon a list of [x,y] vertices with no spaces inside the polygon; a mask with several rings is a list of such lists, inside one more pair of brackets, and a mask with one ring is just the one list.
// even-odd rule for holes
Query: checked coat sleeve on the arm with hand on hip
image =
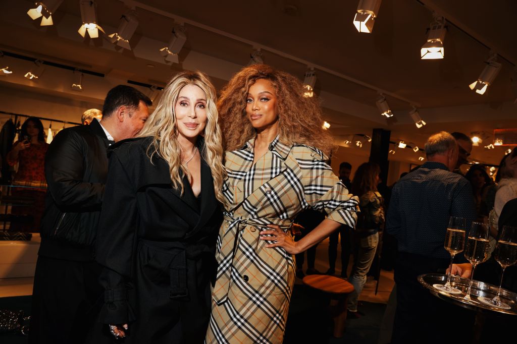
{"label": "checked coat sleeve on the arm with hand on hip", "polygon": [[297,152],[306,201],[313,209],[327,213],[327,219],[355,228],[359,199],[348,193],[334,175],[323,153],[306,148]]}

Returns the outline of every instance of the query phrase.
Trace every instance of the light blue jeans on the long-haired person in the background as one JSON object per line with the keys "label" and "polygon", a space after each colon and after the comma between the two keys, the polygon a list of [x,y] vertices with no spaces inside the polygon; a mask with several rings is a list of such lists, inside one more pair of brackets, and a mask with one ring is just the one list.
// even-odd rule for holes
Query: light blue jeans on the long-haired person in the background
{"label": "light blue jeans on the long-haired person in the background", "polygon": [[366,274],[372,266],[373,258],[375,258],[375,250],[379,242],[379,233],[371,234],[367,237],[360,238],[356,243],[354,254],[354,268],[352,269],[352,277],[349,282],[354,286],[354,291],[348,296],[348,310],[357,311],[357,299],[366,283]]}

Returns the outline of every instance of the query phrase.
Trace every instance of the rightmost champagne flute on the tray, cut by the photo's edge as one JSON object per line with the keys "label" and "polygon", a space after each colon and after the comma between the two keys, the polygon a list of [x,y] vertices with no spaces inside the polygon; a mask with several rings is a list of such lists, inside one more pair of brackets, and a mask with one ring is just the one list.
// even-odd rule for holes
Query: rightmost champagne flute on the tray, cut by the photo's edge
{"label": "rightmost champagne flute on the tray, cut by the photo's edge", "polygon": [[499,239],[497,239],[494,254],[495,260],[501,265],[501,268],[503,269],[503,272],[501,272],[501,281],[499,282],[497,295],[495,295],[493,299],[485,297],[478,299],[490,306],[510,309],[511,307],[508,304],[502,302],[499,296],[501,294],[501,285],[503,285],[505,269],[510,265],[515,265],[517,263],[517,227],[503,226],[499,235]]}

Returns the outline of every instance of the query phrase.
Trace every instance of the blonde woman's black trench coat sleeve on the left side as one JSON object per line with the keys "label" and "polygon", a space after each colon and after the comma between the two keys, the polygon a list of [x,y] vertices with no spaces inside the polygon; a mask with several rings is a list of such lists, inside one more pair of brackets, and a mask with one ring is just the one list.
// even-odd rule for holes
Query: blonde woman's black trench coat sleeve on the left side
{"label": "blonde woman's black trench coat sleeve on the left side", "polygon": [[136,238],[134,185],[126,166],[114,152],[110,158],[96,247],[96,260],[104,267],[99,279],[105,290],[100,312],[102,323],[124,324],[135,320],[128,298]]}

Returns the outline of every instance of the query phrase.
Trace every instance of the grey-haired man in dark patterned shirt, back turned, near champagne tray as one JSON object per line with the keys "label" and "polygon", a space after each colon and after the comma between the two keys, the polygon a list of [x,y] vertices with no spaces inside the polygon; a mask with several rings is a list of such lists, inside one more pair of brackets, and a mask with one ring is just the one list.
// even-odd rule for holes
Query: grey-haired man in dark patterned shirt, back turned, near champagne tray
{"label": "grey-haired man in dark patterned shirt, back turned, near champagne tray", "polygon": [[452,321],[451,315],[444,313],[447,306],[424,289],[417,277],[448,267],[450,255],[444,240],[449,217],[464,217],[468,222],[476,215],[470,183],[451,172],[458,161],[454,137],[447,132],[432,135],[425,144],[425,154],[428,161],[393,187],[388,210],[386,231],[399,244],[392,343],[412,342],[418,337],[432,341],[436,339],[433,333],[443,337],[440,331],[430,329],[446,328],[441,326],[444,320]]}

